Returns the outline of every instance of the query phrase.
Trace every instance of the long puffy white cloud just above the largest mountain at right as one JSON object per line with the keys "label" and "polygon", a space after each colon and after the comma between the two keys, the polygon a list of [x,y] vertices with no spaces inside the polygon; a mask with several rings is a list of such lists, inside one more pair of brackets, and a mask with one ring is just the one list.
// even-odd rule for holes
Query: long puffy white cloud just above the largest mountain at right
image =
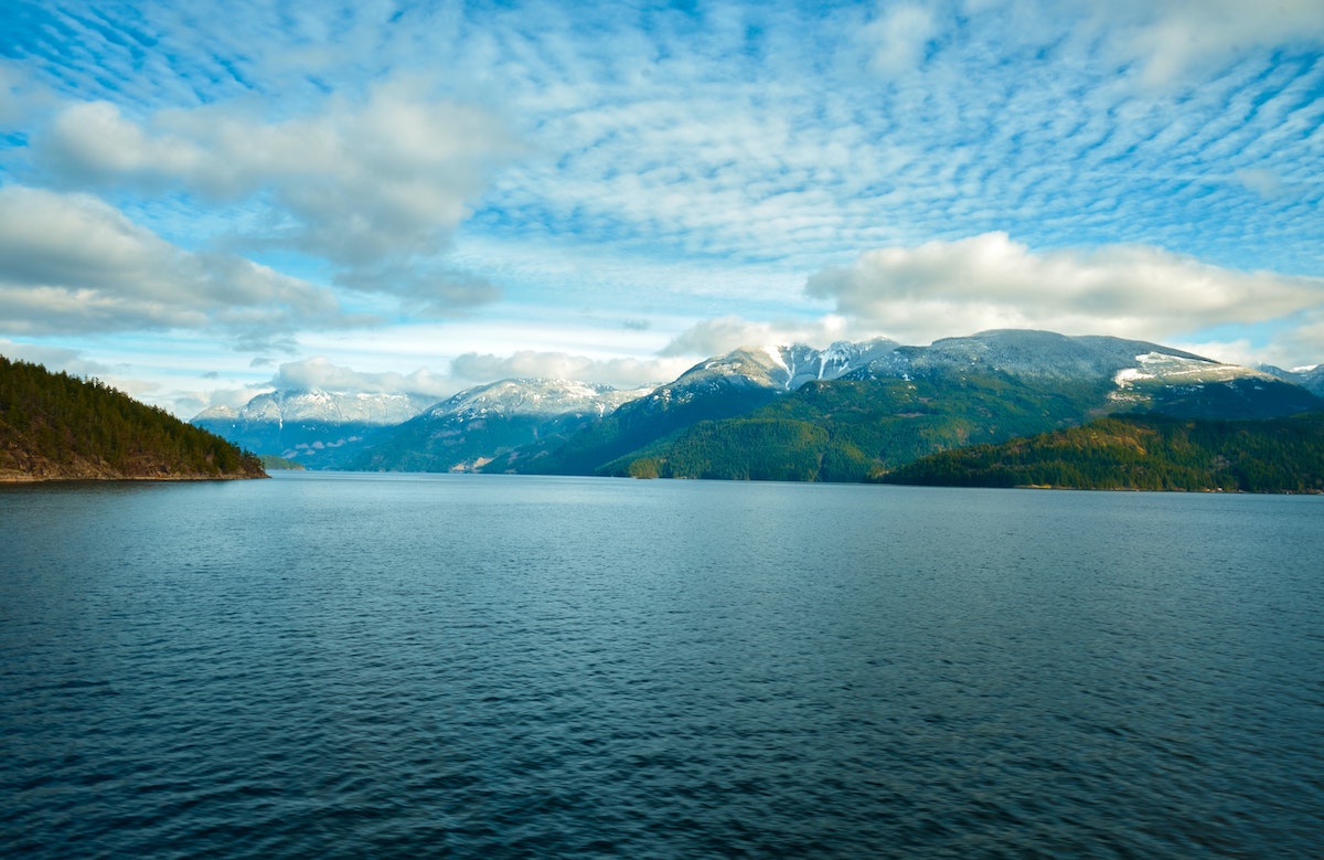
{"label": "long puffy white cloud just above the largest mountain at right", "polygon": [[1000,232],[870,250],[805,289],[899,339],[993,327],[1164,338],[1324,302],[1324,278],[1223,269],[1144,245],[1035,253]]}

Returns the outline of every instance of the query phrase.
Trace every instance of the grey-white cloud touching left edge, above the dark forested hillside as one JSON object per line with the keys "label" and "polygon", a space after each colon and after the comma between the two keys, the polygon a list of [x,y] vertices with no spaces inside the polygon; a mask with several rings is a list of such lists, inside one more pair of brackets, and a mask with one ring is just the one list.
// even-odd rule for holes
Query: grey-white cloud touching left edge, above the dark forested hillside
{"label": "grey-white cloud touching left edge, above the dark forested hillside", "polygon": [[306,281],[183,250],[90,195],[24,186],[0,187],[0,318],[13,334],[212,327],[244,345],[344,322]]}

